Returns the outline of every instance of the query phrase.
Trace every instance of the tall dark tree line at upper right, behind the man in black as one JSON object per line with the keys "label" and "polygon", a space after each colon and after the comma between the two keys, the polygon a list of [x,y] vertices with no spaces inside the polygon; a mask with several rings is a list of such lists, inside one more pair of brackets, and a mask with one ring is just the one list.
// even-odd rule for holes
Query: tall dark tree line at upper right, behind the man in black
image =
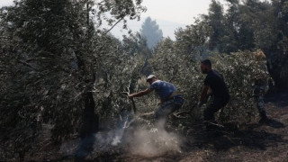
{"label": "tall dark tree line at upper right, behind the man in black", "polygon": [[211,1],[208,14],[195,23],[175,32],[176,42],[195,57],[207,56],[207,50],[231,54],[238,50],[262,49],[268,67],[280,89],[288,89],[287,12],[288,3],[268,1],[227,0],[223,12],[219,1]]}

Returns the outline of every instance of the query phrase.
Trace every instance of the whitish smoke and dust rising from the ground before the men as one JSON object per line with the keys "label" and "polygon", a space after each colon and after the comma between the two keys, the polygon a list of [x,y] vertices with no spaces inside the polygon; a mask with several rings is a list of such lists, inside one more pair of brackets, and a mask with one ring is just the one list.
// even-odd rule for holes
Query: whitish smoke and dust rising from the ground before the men
{"label": "whitish smoke and dust rising from the ground before the men", "polygon": [[98,132],[85,139],[68,141],[61,146],[60,153],[66,156],[93,157],[121,148],[125,150],[125,154],[155,157],[167,152],[181,152],[181,138],[164,129],[165,121],[158,122],[156,128],[149,121],[140,118],[129,124],[129,127],[119,130]]}

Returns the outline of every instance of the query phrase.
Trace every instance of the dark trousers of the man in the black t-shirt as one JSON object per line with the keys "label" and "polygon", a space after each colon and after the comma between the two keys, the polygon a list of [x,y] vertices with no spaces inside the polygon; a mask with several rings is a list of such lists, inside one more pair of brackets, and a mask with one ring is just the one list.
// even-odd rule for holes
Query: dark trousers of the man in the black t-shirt
{"label": "dark trousers of the man in the black t-shirt", "polygon": [[218,112],[229,102],[229,96],[227,97],[215,97],[212,96],[211,104],[204,111],[205,121],[215,121],[214,113]]}

